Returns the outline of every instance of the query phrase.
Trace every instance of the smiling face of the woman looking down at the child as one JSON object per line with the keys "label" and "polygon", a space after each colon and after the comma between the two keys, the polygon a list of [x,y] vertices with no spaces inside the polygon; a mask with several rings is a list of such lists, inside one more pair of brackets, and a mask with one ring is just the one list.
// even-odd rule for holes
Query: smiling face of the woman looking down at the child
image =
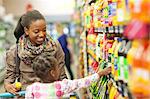
{"label": "smiling face of the woman looking down at the child", "polygon": [[25,28],[26,35],[29,36],[31,43],[34,45],[43,44],[46,38],[46,22],[45,20],[32,21],[29,28]]}

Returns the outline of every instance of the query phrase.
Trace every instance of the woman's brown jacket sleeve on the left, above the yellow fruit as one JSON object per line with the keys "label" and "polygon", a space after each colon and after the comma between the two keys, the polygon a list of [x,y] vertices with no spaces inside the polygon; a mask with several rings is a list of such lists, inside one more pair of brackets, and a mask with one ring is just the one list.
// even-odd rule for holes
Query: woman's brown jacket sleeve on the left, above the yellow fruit
{"label": "woman's brown jacket sleeve on the left, above the yellow fruit", "polygon": [[15,82],[15,47],[10,48],[6,52],[6,75],[5,75],[5,83],[13,83]]}

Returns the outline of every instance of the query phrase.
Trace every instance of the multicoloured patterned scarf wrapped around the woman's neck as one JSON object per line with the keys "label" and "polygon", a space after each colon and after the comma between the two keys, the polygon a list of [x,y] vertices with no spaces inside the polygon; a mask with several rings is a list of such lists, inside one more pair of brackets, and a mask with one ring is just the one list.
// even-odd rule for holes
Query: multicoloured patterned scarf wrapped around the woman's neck
{"label": "multicoloured patterned scarf wrapped around the woman's neck", "polygon": [[47,55],[54,55],[56,52],[56,43],[51,37],[46,37],[42,45],[33,45],[28,37],[23,35],[19,39],[18,43],[18,55],[19,58],[27,65],[32,63],[32,60],[40,55],[41,53],[46,53]]}

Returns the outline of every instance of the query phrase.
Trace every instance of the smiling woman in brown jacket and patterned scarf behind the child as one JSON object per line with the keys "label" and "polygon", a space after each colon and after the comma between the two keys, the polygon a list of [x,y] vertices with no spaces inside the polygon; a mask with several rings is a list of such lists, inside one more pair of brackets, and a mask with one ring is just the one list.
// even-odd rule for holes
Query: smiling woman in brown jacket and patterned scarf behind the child
{"label": "smiling woman in brown jacket and patterned scarf behind the child", "polygon": [[23,85],[22,90],[25,90],[33,82],[42,82],[35,75],[31,64],[32,60],[43,52],[51,53],[58,60],[58,69],[61,71],[59,80],[66,78],[63,50],[58,42],[54,42],[46,36],[46,21],[39,11],[33,10],[22,15],[14,35],[17,39],[16,45],[12,46],[6,53],[5,89],[8,92],[17,94],[18,89],[15,88],[13,83],[17,77],[18,67],[20,71],[19,79]]}

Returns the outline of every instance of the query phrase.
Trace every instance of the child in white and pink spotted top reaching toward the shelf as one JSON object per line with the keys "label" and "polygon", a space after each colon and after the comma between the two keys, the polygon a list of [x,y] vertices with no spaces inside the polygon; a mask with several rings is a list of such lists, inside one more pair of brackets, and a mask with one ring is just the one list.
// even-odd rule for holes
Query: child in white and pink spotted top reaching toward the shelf
{"label": "child in white and pink spotted top reaching toward the shelf", "polygon": [[108,67],[85,78],[57,81],[60,76],[60,69],[57,66],[58,62],[56,58],[44,53],[33,60],[32,68],[43,82],[36,82],[29,85],[26,89],[26,99],[61,98],[64,94],[71,93],[76,89],[90,86],[92,82],[98,81],[101,76],[111,72],[111,67]]}

